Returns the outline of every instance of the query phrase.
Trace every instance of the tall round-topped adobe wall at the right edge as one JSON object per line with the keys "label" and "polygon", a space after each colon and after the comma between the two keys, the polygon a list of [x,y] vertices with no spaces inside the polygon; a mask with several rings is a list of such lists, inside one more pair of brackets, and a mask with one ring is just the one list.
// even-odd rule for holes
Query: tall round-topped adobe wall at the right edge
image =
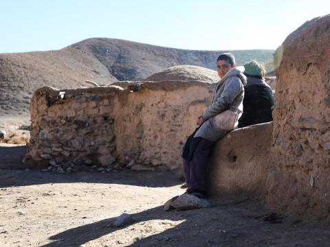
{"label": "tall round-topped adobe wall at the right edge", "polygon": [[[266,202],[301,215],[330,211],[330,15],[290,34],[276,55]],[[283,51],[283,53],[281,53]]]}

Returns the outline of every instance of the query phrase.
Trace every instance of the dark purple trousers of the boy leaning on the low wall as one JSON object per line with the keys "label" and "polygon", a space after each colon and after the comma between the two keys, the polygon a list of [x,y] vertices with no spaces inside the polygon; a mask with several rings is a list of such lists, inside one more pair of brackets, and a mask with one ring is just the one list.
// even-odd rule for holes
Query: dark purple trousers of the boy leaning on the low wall
{"label": "dark purple trousers of the boy leaning on the low wall", "polygon": [[189,190],[206,191],[206,168],[213,141],[201,138],[190,161],[184,159],[184,176]]}

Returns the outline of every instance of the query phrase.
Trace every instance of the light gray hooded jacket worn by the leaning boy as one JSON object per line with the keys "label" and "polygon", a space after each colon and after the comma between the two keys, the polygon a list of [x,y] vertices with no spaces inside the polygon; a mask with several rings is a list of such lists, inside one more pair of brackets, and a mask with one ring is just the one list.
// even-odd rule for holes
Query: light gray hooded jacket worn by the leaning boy
{"label": "light gray hooded jacket worn by the leaning boy", "polygon": [[[243,66],[232,68],[217,83],[210,106],[203,110],[201,114],[205,121],[196,132],[195,137],[202,137],[214,142],[224,137],[228,130],[221,130],[214,126],[213,118],[219,113],[229,110],[231,106],[236,109],[239,117],[241,117],[243,113],[244,86],[246,84],[246,77],[243,75],[243,72]],[[239,125],[239,117],[234,128]]]}

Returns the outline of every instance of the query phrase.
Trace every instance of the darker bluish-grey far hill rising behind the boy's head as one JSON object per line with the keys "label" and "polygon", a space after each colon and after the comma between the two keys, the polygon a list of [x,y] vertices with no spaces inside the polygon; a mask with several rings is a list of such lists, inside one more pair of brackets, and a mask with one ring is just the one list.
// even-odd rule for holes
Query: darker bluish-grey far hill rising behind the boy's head
{"label": "darker bluish-grey far hill rising behind the boy's head", "polygon": [[[175,65],[195,65],[216,69],[215,60],[228,50],[196,51],[146,45],[112,38],[89,38],[71,45],[97,58],[118,80],[143,80]],[[256,59],[272,63],[274,50],[230,51],[238,64]],[[268,66],[269,70],[272,67]]]}

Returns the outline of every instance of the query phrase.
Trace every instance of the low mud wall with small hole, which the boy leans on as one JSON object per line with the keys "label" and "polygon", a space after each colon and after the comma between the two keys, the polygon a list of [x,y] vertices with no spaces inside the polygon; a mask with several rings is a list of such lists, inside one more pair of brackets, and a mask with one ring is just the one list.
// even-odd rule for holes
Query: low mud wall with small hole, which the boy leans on
{"label": "low mud wall with small hole, which the boy leans on", "polygon": [[208,170],[212,194],[240,193],[260,196],[265,184],[272,122],[233,130],[214,148]]}

